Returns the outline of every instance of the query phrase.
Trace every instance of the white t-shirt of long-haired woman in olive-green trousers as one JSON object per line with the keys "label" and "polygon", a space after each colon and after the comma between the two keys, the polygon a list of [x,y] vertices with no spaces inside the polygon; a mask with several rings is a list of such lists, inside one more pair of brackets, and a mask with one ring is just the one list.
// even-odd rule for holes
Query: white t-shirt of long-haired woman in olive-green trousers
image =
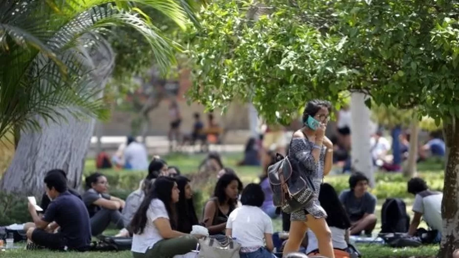
{"label": "white t-shirt of long-haired woman in olive-green trousers", "polygon": [[141,235],[134,234],[132,237],[132,252],[145,254],[148,249],[163,239],[158,228],[153,223],[158,218],[169,219],[169,215],[167,215],[164,203],[160,199],[153,199],[147,210],[147,223],[143,233]]}

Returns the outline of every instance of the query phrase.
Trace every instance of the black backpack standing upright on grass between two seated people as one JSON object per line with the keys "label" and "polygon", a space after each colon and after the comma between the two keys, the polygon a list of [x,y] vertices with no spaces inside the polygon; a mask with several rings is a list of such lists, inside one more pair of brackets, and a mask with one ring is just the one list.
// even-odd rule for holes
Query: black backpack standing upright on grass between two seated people
{"label": "black backpack standing upright on grass between two seated people", "polygon": [[406,233],[410,228],[410,216],[406,204],[399,198],[387,198],[381,209],[381,233]]}

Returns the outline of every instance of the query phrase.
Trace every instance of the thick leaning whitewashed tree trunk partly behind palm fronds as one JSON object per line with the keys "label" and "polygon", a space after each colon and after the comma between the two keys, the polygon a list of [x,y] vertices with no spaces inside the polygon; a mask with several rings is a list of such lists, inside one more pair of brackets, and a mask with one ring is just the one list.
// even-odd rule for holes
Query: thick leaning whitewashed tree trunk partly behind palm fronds
{"label": "thick leaning whitewashed tree trunk partly behind palm fronds", "polygon": [[[95,39],[92,35],[85,37]],[[85,57],[85,65],[92,70],[88,89],[103,89],[113,70],[115,55],[107,41],[95,40],[97,49],[80,47],[80,51]],[[102,97],[102,92],[98,97]],[[67,172],[70,187],[80,185],[95,119],[77,120],[70,114],[66,118],[68,121],[60,124],[46,124],[41,119],[41,131],[22,132],[13,161],[1,180],[2,191],[40,195],[45,174],[52,169]]]}

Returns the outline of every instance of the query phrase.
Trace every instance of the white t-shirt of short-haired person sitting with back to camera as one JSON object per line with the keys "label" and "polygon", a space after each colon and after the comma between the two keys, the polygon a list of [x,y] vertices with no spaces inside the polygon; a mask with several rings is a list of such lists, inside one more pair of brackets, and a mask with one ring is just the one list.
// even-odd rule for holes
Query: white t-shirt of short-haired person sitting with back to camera
{"label": "white t-shirt of short-haired person sitting with back to camera", "polygon": [[231,212],[226,228],[232,230],[231,237],[242,247],[265,246],[264,234],[273,234],[271,218],[260,208],[248,205]]}

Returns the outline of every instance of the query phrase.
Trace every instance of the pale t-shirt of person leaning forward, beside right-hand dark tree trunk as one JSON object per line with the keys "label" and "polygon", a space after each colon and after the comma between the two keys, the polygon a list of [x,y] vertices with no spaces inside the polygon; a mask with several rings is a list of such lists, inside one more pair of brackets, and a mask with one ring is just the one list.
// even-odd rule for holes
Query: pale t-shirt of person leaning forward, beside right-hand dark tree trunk
{"label": "pale t-shirt of person leaning forward, beside right-hand dark tree trunk", "polygon": [[441,200],[443,194],[432,191],[423,191],[416,194],[413,202],[413,212],[421,213],[431,229],[441,231]]}

